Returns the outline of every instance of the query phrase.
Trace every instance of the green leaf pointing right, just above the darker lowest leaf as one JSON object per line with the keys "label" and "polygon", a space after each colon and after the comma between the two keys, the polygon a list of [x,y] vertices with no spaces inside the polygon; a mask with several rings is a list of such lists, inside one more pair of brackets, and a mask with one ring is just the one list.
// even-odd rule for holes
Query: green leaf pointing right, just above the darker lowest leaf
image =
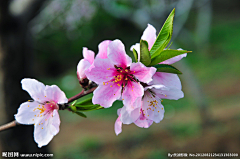
{"label": "green leaf pointing right, just above the darker lowest leaf", "polygon": [[160,62],[163,62],[165,60],[168,60],[172,57],[184,54],[184,53],[189,53],[191,51],[187,51],[187,50],[163,50],[160,55],[156,56],[155,58],[152,59],[152,62],[150,63],[149,66],[153,66],[156,65]]}

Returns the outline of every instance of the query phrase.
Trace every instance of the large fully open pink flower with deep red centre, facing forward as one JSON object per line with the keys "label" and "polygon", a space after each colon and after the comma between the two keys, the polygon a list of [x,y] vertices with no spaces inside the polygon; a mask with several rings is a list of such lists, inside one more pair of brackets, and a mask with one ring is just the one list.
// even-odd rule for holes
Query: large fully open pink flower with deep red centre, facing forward
{"label": "large fully open pink flower with deep red centre, facing forward", "polygon": [[153,67],[146,67],[141,62],[132,63],[120,40],[114,40],[107,47],[107,58],[96,58],[94,68],[89,70],[87,77],[99,86],[93,92],[93,104],[108,108],[115,100],[122,98],[128,109],[139,107],[135,100],[143,96],[143,86],[148,83],[156,72]]}

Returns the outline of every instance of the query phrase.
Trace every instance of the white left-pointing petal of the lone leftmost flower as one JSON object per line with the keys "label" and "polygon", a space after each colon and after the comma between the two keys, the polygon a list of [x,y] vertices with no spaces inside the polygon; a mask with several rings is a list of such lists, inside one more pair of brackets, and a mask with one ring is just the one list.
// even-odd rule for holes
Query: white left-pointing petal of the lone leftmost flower
{"label": "white left-pointing petal of the lone leftmost flower", "polygon": [[15,114],[15,119],[20,124],[34,124],[39,120],[37,114],[40,110],[37,109],[39,103],[36,101],[25,102],[18,108],[18,113]]}

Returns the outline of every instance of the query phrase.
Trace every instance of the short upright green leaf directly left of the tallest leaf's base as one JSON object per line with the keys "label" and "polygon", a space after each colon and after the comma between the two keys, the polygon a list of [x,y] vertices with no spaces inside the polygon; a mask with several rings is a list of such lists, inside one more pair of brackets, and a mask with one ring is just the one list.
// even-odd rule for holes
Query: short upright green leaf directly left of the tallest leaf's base
{"label": "short upright green leaf directly left of the tallest leaf's base", "polygon": [[151,63],[151,55],[148,50],[148,43],[145,40],[140,41],[140,62],[145,66],[148,66]]}

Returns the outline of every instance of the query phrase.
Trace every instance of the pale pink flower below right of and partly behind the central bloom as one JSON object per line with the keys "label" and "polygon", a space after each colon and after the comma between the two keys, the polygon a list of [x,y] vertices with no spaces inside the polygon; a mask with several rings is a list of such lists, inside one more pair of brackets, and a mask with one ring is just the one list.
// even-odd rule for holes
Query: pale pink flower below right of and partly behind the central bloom
{"label": "pale pink flower below right of and partly behind the central bloom", "polygon": [[117,135],[122,132],[122,124],[134,123],[138,127],[148,128],[153,122],[159,123],[164,117],[161,99],[177,100],[184,96],[179,78],[171,73],[156,72],[153,80],[145,84],[144,90],[140,108],[127,111],[126,106],[123,106],[118,110],[119,117],[115,122]]}

